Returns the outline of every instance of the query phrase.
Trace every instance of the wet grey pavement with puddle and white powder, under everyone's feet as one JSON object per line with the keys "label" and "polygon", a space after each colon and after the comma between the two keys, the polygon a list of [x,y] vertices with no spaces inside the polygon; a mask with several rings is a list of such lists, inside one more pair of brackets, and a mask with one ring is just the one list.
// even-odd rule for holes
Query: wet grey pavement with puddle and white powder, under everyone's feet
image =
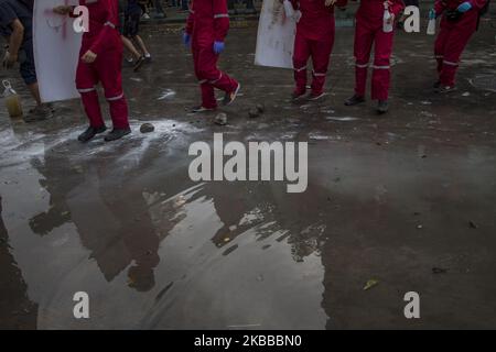
{"label": "wet grey pavement with puddle and white powder, under everyone's feet", "polygon": [[[126,68],[134,133],[76,141],[78,101],[34,124],[0,117],[0,328],[349,329],[496,327],[496,77],[484,22],[451,96],[430,91],[433,38],[396,40],[391,111],[346,108],[353,30],[339,29],[321,103],[293,106],[291,72],[252,65],[256,29],[230,32],[222,66],[244,85],[229,123],[198,100],[177,35],[148,37]],[[29,102],[15,73],[14,86]],[[495,87],[496,88],[496,87]],[[267,111],[248,119],[262,101]],[[151,122],[155,132],[140,134]],[[193,183],[194,141],[308,141],[309,188]],[[445,270],[445,273],[433,268]],[[365,283],[378,285],[364,290]],[[90,319],[73,317],[73,295]],[[418,292],[421,319],[403,316]]]}

